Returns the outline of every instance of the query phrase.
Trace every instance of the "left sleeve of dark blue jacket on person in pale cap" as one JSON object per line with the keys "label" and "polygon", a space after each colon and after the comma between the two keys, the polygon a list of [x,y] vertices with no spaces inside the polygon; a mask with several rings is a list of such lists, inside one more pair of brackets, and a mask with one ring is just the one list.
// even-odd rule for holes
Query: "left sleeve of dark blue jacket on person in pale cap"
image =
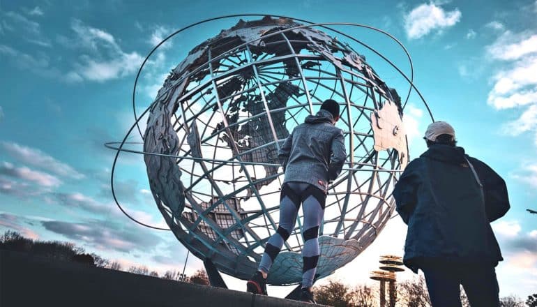
{"label": "left sleeve of dark blue jacket on person in pale cap", "polygon": [[395,188],[393,188],[393,197],[395,198],[395,210],[402,218],[403,222],[408,225],[409,218],[418,202],[418,174],[415,170],[416,161],[412,161],[404,169]]}

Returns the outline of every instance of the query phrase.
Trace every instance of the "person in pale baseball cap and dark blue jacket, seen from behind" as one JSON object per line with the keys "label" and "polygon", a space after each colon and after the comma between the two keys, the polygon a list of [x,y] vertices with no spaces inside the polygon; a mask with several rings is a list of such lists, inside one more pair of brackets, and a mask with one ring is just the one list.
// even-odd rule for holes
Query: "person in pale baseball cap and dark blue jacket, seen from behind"
{"label": "person in pale baseball cap and dark blue jacket, seen from behind", "polygon": [[494,268],[503,258],[490,222],[510,208],[505,181],[456,146],[448,123],[431,123],[424,139],[428,150],[393,190],[408,225],[403,262],[423,271],[433,307],[460,307],[460,285],[472,307],[499,306]]}

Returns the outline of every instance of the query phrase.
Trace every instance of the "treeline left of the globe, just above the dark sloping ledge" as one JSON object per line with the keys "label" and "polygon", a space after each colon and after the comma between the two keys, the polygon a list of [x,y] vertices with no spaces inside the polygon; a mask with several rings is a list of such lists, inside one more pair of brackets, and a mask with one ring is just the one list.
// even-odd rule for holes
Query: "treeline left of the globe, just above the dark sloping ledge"
{"label": "treeline left of the globe, just above the dark sloping ledge", "polygon": [[96,267],[127,271],[133,274],[178,280],[186,283],[197,283],[199,285],[209,285],[209,278],[203,270],[196,271],[192,276],[181,274],[180,271],[166,271],[165,274],[160,276],[157,271],[150,270],[145,266],[123,268],[119,262],[107,260],[96,253],[86,253],[84,248],[76,246],[73,243],[28,239],[22,237],[18,232],[11,230],[4,232],[4,234],[0,236],[0,249],[29,253],[31,255],[49,257],[63,261],[82,262]]}

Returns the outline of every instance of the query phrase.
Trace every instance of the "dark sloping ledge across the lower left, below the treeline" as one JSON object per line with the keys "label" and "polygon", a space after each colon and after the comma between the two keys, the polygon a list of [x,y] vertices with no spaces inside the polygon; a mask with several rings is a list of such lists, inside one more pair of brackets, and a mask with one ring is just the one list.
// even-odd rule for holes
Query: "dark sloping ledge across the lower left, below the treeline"
{"label": "dark sloping ledge across the lower left, below the treeline", "polygon": [[0,306],[311,306],[0,250]]}

